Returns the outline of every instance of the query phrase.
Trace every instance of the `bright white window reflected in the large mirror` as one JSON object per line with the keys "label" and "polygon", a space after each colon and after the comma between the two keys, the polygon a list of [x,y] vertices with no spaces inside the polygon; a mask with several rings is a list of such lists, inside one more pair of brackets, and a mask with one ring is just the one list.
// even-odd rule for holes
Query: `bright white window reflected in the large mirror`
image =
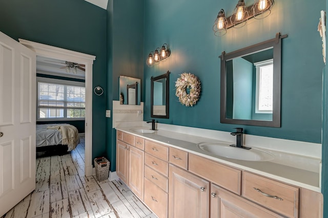
{"label": "bright white window reflected in the large mirror", "polygon": [[273,60],[254,63],[256,67],[256,111],[272,114],[273,110]]}

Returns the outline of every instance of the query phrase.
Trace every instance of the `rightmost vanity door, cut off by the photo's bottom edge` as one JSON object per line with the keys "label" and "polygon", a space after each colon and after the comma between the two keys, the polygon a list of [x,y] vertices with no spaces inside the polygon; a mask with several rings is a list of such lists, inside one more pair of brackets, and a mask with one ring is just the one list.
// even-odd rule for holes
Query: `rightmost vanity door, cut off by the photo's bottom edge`
{"label": "rightmost vanity door, cut off by the photo's bottom edge", "polygon": [[211,184],[211,218],[220,217],[282,217],[239,195]]}

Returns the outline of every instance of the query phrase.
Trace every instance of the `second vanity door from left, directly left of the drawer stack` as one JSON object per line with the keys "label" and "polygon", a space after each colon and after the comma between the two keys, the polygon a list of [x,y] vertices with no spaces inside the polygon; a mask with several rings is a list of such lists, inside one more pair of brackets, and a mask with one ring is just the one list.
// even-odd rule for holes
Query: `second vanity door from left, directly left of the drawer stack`
{"label": "second vanity door from left, directly left of the drawer stack", "polygon": [[128,186],[141,200],[144,200],[144,157],[144,151],[130,146]]}

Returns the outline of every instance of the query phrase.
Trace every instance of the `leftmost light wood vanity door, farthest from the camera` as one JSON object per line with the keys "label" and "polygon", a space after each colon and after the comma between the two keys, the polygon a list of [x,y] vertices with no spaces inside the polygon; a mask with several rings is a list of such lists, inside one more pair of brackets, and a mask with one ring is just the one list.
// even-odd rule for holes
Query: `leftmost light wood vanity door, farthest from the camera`
{"label": "leftmost light wood vanity door, farthest from the camera", "polygon": [[126,184],[128,181],[128,149],[128,144],[116,141],[116,173]]}

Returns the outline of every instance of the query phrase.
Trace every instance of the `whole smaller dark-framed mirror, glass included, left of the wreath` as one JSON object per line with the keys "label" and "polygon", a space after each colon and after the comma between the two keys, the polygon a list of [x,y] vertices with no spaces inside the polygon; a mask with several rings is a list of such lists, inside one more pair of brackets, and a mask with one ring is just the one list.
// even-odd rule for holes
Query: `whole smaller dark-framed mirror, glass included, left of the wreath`
{"label": "whole smaller dark-framed mirror, glass included, left of the wreath", "polygon": [[169,75],[151,77],[150,116],[155,118],[169,118]]}

